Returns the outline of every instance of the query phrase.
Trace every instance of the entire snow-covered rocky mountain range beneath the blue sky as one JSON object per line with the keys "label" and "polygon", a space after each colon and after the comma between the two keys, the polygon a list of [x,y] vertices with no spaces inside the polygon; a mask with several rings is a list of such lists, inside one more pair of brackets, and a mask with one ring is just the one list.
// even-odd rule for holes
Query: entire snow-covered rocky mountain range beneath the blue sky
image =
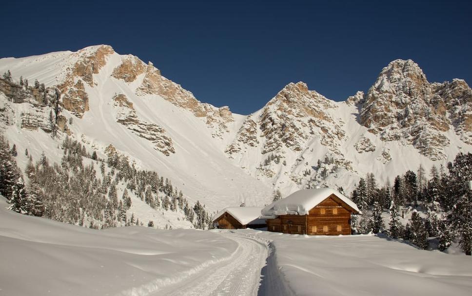
{"label": "entire snow-covered rocky mountain range beneath the blue sky", "polygon": [[[430,83],[412,60],[392,61],[366,94],[343,102],[289,83],[249,116],[200,102],[153,63],[108,45],[0,59],[0,73],[8,70],[0,124],[19,151],[59,161],[65,135],[101,158],[112,145],[210,212],[264,205],[274,189],[349,191],[366,173],[385,181],[472,151],[471,88],[460,79]],[[39,83],[25,91],[20,77]]]}

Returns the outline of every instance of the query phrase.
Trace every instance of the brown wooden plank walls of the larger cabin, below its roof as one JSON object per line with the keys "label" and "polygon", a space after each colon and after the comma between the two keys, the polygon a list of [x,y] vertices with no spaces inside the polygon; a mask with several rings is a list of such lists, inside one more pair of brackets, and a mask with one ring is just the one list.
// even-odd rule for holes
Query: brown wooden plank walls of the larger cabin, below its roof
{"label": "brown wooden plank walls of the larger cabin, below its roof", "polygon": [[350,235],[351,211],[345,202],[331,195],[311,209],[308,215],[280,215],[267,219],[267,230],[287,234]]}

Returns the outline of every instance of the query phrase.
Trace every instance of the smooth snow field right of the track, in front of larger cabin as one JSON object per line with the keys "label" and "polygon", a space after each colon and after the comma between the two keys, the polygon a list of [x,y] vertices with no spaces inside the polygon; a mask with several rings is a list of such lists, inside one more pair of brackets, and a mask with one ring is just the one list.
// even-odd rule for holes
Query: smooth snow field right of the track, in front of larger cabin
{"label": "smooth snow field right of the track, in front of larger cabin", "polygon": [[419,250],[373,235],[307,236],[246,229],[231,232],[270,241],[271,255],[262,271],[260,295],[472,294],[470,256]]}

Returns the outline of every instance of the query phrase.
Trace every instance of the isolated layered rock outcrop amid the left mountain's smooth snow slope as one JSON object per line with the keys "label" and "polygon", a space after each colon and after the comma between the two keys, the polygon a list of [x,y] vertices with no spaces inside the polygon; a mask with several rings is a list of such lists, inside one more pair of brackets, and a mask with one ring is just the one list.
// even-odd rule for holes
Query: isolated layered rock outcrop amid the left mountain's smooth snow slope
{"label": "isolated layered rock outcrop amid the left mountain's smooth snow slope", "polygon": [[166,134],[166,131],[156,123],[150,123],[141,120],[136,115],[133,103],[123,94],[117,94],[113,97],[115,108],[117,109],[117,122],[126,126],[134,134],[145,138],[154,144],[154,149],[169,156],[175,153],[172,139]]}

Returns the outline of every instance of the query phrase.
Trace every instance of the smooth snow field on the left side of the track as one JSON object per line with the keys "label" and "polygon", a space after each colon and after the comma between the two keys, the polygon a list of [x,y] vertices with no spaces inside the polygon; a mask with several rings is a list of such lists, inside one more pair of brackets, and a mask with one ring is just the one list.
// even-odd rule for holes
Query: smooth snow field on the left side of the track
{"label": "smooth snow field on the left side of the track", "polygon": [[0,196],[1,295],[149,295],[228,260],[234,240],[198,230],[93,230],[20,215]]}

